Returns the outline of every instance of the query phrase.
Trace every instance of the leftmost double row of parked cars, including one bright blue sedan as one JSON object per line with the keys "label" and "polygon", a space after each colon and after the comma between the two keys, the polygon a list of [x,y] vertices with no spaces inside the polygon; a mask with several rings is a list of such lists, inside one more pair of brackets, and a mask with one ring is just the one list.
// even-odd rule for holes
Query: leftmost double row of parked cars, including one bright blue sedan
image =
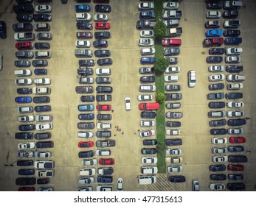
{"label": "leftmost double row of parked cars, including one bright blue sedan", "polygon": [[[44,186],[49,184],[51,177],[55,175],[55,162],[49,160],[52,158],[49,149],[54,147],[54,142],[49,140],[52,137],[49,131],[53,128],[53,116],[49,113],[52,110],[49,105],[49,85],[52,81],[46,77],[47,59],[52,57],[49,51],[49,40],[52,40],[52,34],[49,32],[52,6],[41,2],[44,3],[40,0],[35,4],[32,4],[33,1],[17,0],[18,4],[13,6],[18,21],[13,24],[17,49],[14,74],[17,77],[15,84],[18,96],[15,97],[15,102],[21,104],[17,107],[18,121],[21,124],[18,126],[19,132],[15,133],[15,139],[23,141],[18,143],[20,160],[17,161],[17,166],[21,166],[18,170],[21,177],[15,181],[16,185],[21,185],[18,191],[35,191],[33,185],[38,185],[38,191],[54,190],[52,186]],[[33,50],[34,48],[36,50]],[[34,74],[30,70],[31,66],[35,67]],[[30,78],[33,75],[36,77]],[[30,88],[32,84],[35,84],[34,88]],[[33,107],[31,103],[38,105]],[[36,141],[33,141],[33,138]],[[35,158],[35,161],[31,158]]]}

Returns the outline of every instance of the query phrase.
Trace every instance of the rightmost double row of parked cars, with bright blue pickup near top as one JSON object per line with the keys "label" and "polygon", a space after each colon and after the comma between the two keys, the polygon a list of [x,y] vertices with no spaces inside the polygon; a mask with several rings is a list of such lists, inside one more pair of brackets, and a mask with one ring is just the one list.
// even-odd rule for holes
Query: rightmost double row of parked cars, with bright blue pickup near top
{"label": "rightmost double row of parked cars, with bright blue pickup near top", "polygon": [[[211,63],[208,67],[210,72],[209,90],[214,93],[209,93],[207,99],[210,100],[209,108],[211,109],[208,113],[208,117],[211,118],[210,124],[210,135],[214,135],[212,138],[212,162],[210,165],[210,184],[211,190],[244,190],[245,185],[243,180],[244,166],[241,163],[247,162],[247,157],[243,155],[246,138],[241,137],[244,132],[243,125],[246,124],[246,120],[243,118],[244,113],[242,92],[236,92],[243,88],[242,81],[245,77],[239,72],[243,71],[243,65],[241,63],[241,56],[243,49],[239,46],[242,43],[242,38],[239,38],[241,31],[238,30],[241,25],[241,21],[235,19],[238,17],[238,10],[242,6],[242,1],[223,1],[223,2],[211,2],[207,3],[207,14],[206,18],[211,19],[207,21],[205,27],[207,31],[205,33],[206,39],[204,39],[204,46],[209,47],[209,54],[207,57],[207,63]],[[224,9],[222,17],[224,20],[224,31],[219,29],[221,18],[221,9]],[[221,36],[224,35],[224,38]],[[223,48],[221,46],[232,46]],[[226,54],[226,57],[222,55]],[[226,85],[222,83],[225,81],[225,66],[222,65],[223,61],[226,63]],[[231,74],[230,74],[231,73]],[[228,93],[224,93],[221,90],[230,90]],[[226,99],[227,101],[221,101]],[[221,102],[220,102],[221,101]],[[231,108],[232,110],[226,111],[224,108]],[[226,117],[229,118],[226,121]],[[212,119],[213,118],[213,119]],[[226,125],[229,127],[226,129]],[[229,138],[229,145],[226,135],[232,135]],[[226,155],[230,152],[229,155]],[[226,166],[224,163],[229,162]],[[237,164],[238,163],[238,164]],[[224,171],[232,171],[232,173],[224,174]],[[228,180],[229,182],[225,185],[223,182]],[[216,182],[217,181],[217,182]]]}

